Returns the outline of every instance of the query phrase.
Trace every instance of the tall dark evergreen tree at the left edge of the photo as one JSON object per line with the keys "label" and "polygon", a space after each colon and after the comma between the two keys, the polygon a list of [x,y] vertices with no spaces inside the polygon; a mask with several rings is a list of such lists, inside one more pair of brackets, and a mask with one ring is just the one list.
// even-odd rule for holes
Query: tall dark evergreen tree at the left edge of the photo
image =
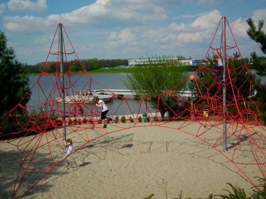
{"label": "tall dark evergreen tree at the left edge of the photo", "polygon": [[[26,104],[30,99],[29,78],[25,71],[15,59],[14,50],[7,48],[7,39],[0,31],[0,87],[2,89],[0,97],[0,114],[11,110],[19,102]],[[23,98],[24,97],[24,98]]]}

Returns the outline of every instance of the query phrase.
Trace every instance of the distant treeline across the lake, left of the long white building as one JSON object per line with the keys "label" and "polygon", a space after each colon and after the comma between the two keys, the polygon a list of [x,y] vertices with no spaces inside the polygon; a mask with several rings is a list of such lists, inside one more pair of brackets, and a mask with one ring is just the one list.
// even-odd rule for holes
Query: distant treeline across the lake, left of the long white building
{"label": "distant treeline across the lake, left of the long white building", "polygon": [[[49,64],[40,62],[35,65],[22,64],[22,68],[26,70],[26,73],[41,73],[44,70],[47,73],[54,73],[57,71],[57,63],[55,61],[49,61]],[[54,64],[52,64],[54,63]],[[71,72],[81,71],[82,66],[86,71],[97,70],[101,68],[115,68],[116,66],[128,65],[128,59],[82,59],[81,63],[77,60],[68,61],[69,64],[63,64],[65,70]],[[75,63],[75,64],[73,64]],[[82,66],[81,66],[82,64]],[[44,69],[43,69],[44,68]]]}

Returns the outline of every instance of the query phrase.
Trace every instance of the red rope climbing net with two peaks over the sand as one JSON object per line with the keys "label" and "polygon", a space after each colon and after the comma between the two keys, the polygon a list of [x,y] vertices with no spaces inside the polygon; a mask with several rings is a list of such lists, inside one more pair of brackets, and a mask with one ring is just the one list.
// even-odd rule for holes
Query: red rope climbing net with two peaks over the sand
{"label": "red rope climbing net with two peaks over the sand", "polygon": [[[222,31],[222,36],[219,35],[221,29],[225,28],[229,32]],[[226,36],[225,45],[221,39],[223,34]],[[220,83],[218,77],[213,75],[212,68],[202,64],[190,77],[178,83],[191,83],[194,96],[182,97],[173,89],[156,96],[158,103],[166,103],[164,99],[167,95],[182,107],[180,112],[170,109],[171,117],[165,119],[158,110],[155,113],[150,110],[145,103],[147,97],[136,98],[139,107],[135,113],[129,103],[131,99],[116,95],[91,78],[78,58],[64,26],[58,24],[42,72],[29,91],[37,95],[37,107],[19,103],[1,117],[1,121],[9,121],[12,125],[6,129],[3,123],[1,132],[11,132],[0,136],[0,143],[10,144],[19,156],[12,198],[27,195],[38,182],[63,164],[64,136],[79,139],[75,143],[75,154],[107,134],[147,126],[163,127],[166,131],[171,128],[199,139],[226,159],[225,165],[233,165],[245,180],[257,186],[254,176],[248,175],[246,169],[259,169],[259,177],[266,177],[266,129],[259,121],[261,113],[256,102],[249,97],[252,92],[251,79],[254,77],[240,54],[225,17],[220,20],[204,60],[217,61],[209,55],[214,49],[224,59],[224,83]],[[243,64],[230,65],[234,60],[241,60]],[[81,66],[81,70],[78,73],[70,72],[71,66],[77,65]],[[57,70],[49,73],[49,68]],[[115,118],[116,112],[122,110],[126,116],[125,122],[115,121],[108,124],[107,129],[102,128],[101,113],[89,103],[94,95],[80,95],[81,90],[89,93],[95,84],[112,93],[105,99],[108,106],[114,99],[121,101],[111,116]],[[28,116],[28,121],[22,123],[17,114],[18,109],[22,110],[24,116]],[[145,123],[138,122],[143,110],[148,116]],[[175,127],[170,125],[173,122],[176,122]]]}

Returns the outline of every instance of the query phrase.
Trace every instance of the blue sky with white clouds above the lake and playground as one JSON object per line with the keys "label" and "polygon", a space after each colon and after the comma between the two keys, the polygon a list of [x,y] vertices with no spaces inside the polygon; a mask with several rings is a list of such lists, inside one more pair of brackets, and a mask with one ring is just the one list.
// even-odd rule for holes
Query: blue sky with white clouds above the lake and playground
{"label": "blue sky with white clouds above the lake and playground", "polygon": [[265,31],[266,0],[2,0],[0,31],[27,64],[46,60],[58,23],[79,59],[203,59],[222,16],[244,58],[264,55],[246,19],[264,20]]}

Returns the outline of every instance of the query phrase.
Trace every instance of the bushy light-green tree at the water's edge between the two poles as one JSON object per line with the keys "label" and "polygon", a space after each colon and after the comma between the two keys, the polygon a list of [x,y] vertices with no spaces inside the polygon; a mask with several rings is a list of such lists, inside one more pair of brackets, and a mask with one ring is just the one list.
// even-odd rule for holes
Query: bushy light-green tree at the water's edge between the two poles
{"label": "bushy light-green tree at the water's edge between the two poles", "polygon": [[[160,95],[170,89],[172,93],[177,93],[186,89],[186,83],[180,83],[188,77],[187,66],[177,66],[173,64],[170,57],[151,57],[141,59],[142,64],[135,66],[131,74],[127,75],[127,80],[123,84],[129,90],[134,90],[135,95],[147,97],[147,102],[152,108],[157,109],[161,116],[177,110],[179,104],[172,95]],[[178,86],[176,86],[178,85]],[[175,107],[175,108],[172,108]]]}

